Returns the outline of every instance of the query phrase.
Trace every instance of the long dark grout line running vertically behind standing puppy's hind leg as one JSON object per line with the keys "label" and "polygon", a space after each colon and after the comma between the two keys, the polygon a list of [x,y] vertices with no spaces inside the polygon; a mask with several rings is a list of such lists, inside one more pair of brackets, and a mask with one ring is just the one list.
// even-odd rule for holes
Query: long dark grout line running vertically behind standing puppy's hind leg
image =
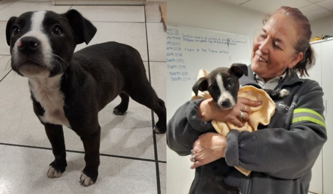
{"label": "long dark grout line running vertically behind standing puppy's hind leg", "polygon": [[[151,75],[150,75],[150,63],[149,63],[149,46],[148,46],[148,32],[147,32],[147,18],[146,18],[146,6],[144,6],[144,14],[145,14],[145,27],[146,27],[146,41],[147,41],[147,58],[148,58],[148,74],[149,74],[149,82],[152,85]],[[155,127],[155,119],[154,119],[154,112],[152,112],[152,126]],[[156,134],[153,131],[153,140],[154,140],[154,155],[155,160],[158,160],[158,154],[157,154],[157,143],[156,143]],[[161,194],[161,183],[160,183],[160,168],[159,163],[156,162],[156,183],[157,183],[157,193]]]}

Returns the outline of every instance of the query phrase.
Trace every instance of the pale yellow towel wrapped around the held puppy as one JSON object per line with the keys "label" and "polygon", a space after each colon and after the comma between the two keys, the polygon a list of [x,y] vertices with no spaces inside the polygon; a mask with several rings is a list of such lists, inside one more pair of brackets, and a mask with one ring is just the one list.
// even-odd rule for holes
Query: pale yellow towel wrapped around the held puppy
{"label": "pale yellow towel wrapped around the held puppy", "polygon": [[[197,79],[206,77],[208,74],[209,72],[207,70],[201,69],[199,70]],[[257,107],[251,107],[250,118],[247,122],[243,122],[243,127],[237,127],[230,122],[212,120],[211,124],[219,134],[226,136],[230,129],[237,129],[239,131],[246,130],[250,132],[255,131],[257,130],[259,123],[267,125],[275,112],[274,101],[263,90],[259,90],[253,86],[244,86],[239,89],[237,96],[261,101],[261,105]],[[195,96],[194,92],[192,92],[191,100],[202,98],[208,99],[211,98],[211,96],[209,95],[208,91],[199,91],[198,96]],[[235,166],[235,168],[246,176],[251,173],[250,170],[247,170],[241,166]]]}

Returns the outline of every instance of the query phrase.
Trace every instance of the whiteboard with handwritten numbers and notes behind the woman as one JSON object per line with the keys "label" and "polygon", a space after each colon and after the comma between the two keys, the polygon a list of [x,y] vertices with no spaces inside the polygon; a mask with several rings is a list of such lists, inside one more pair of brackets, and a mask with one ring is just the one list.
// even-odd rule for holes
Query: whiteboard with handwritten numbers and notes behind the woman
{"label": "whiteboard with handwritten numbers and notes behind the woman", "polygon": [[167,120],[190,99],[200,69],[250,64],[249,37],[181,25],[166,26]]}

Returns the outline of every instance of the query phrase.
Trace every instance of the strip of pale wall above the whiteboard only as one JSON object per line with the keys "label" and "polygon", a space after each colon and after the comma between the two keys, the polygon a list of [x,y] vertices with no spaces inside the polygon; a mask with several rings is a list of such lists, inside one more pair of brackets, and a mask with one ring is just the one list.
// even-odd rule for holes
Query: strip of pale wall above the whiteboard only
{"label": "strip of pale wall above the whiteboard only", "polygon": [[168,23],[247,35],[250,42],[268,18],[219,0],[167,0]]}

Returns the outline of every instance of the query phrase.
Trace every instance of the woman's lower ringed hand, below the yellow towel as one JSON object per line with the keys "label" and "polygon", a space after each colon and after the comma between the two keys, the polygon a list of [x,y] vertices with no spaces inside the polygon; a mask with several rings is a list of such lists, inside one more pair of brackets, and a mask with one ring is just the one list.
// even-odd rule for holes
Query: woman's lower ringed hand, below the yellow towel
{"label": "woman's lower ringed hand, below the yellow towel", "polygon": [[195,162],[191,169],[208,164],[224,157],[225,136],[218,133],[204,133],[193,143],[192,154],[195,156]]}

